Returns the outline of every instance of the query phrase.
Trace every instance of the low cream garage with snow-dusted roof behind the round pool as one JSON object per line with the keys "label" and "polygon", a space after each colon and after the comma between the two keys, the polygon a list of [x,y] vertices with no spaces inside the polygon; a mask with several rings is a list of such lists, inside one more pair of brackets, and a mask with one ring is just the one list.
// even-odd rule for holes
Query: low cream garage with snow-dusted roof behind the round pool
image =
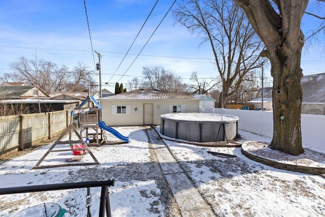
{"label": "low cream garage with snow-dusted roof behind the round pool", "polygon": [[160,125],[160,115],[199,112],[200,100],[159,89],[138,89],[99,99],[108,126]]}

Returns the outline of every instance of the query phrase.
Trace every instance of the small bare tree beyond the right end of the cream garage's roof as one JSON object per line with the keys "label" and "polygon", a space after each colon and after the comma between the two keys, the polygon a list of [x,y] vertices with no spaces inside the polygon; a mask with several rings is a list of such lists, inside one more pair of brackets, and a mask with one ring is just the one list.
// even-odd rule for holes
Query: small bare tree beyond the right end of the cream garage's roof
{"label": "small bare tree beyond the right end of the cream garage's roof", "polygon": [[221,81],[217,81],[217,79],[213,78],[211,78],[210,81],[206,81],[206,79],[202,81],[202,79],[198,78],[198,72],[192,72],[190,80],[193,82],[190,87],[195,89],[198,94],[206,94],[209,90],[214,89],[221,83]]}

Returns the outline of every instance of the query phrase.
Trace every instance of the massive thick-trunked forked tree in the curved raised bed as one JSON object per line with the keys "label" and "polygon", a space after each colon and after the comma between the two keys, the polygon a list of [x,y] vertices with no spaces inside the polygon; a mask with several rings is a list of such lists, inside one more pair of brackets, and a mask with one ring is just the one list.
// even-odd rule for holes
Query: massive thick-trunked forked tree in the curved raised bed
{"label": "massive thick-trunked forked tree in the curved raised bed", "polygon": [[246,13],[266,49],[273,77],[273,139],[271,147],[285,153],[303,153],[300,68],[305,38],[300,26],[308,0],[234,0]]}

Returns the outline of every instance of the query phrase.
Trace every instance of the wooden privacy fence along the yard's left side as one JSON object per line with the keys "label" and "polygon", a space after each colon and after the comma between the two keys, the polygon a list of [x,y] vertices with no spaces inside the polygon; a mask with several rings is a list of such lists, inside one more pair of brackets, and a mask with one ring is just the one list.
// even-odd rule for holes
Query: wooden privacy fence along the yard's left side
{"label": "wooden privacy fence along the yard's left side", "polygon": [[0,156],[59,136],[72,110],[0,117]]}

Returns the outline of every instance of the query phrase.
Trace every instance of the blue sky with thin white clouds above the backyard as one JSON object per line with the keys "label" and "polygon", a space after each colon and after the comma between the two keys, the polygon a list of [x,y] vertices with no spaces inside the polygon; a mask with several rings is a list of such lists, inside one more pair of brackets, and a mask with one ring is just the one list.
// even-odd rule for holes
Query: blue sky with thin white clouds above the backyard
{"label": "blue sky with thin white clouds above the backyard", "polygon": [[[172,9],[176,9],[179,1]],[[313,2],[310,1],[307,10],[316,10]],[[198,72],[202,80],[217,75],[209,44],[202,44],[202,39],[175,23],[171,11],[163,20],[174,0],[158,1],[123,61],[156,1],[86,0],[86,10],[82,0],[0,0],[0,3],[0,75],[12,72],[10,63],[21,56],[37,57],[70,69],[82,62],[89,70],[95,70],[99,58],[94,51],[102,55],[102,88],[113,92],[115,82],[125,87],[134,77],[141,79],[143,67],[162,66],[180,76],[184,83],[190,83],[192,72]],[[325,8],[325,4],[322,6]],[[304,17],[305,35],[317,22],[311,16]],[[320,38],[304,49],[301,65],[304,74],[325,72],[323,46],[324,40]],[[269,71],[266,66],[267,75]],[[99,82],[99,75],[95,80]]]}

